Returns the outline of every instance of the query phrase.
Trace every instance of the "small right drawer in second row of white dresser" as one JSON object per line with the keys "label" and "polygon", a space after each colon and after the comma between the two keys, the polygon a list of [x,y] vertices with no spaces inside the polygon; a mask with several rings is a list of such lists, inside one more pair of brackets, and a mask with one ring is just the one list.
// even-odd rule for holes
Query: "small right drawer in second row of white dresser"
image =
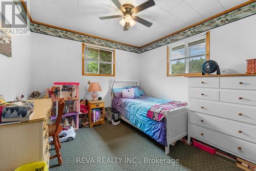
{"label": "small right drawer in second row of white dresser", "polygon": [[243,90],[221,90],[220,101],[256,105],[256,92]]}

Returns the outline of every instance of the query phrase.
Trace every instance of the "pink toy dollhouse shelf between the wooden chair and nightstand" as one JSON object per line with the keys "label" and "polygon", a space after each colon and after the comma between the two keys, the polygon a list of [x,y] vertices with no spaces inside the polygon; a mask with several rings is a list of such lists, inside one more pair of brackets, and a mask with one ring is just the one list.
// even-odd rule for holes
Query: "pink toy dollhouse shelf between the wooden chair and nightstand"
{"label": "pink toy dollhouse shelf between the wooden chair and nightstand", "polygon": [[[55,123],[58,115],[58,100],[64,98],[65,108],[62,114],[62,124],[79,128],[79,82],[54,82],[55,91],[53,98],[53,108],[51,122]],[[52,89],[51,89],[52,90]]]}

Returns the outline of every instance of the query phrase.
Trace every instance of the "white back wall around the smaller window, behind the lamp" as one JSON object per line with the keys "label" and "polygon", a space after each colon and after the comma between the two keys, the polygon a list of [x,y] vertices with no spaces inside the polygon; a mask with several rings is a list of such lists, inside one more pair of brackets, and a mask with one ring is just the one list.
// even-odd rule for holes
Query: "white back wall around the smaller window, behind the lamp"
{"label": "white back wall around the smaller window, behind the lamp", "polygon": [[[74,40],[32,33],[32,89],[43,92],[53,82],[80,82],[79,98],[91,99],[86,92],[88,80],[99,82],[99,96],[111,106],[111,81],[114,77],[82,76],[82,43]],[[116,78],[139,78],[139,54],[116,50]],[[42,96],[43,96],[42,95]]]}

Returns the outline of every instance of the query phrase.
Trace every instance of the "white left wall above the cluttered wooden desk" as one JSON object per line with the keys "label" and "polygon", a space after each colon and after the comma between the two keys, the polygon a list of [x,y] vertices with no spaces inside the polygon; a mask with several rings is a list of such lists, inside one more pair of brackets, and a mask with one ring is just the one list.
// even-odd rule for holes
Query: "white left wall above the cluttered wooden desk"
{"label": "white left wall above the cluttered wooden desk", "polygon": [[0,54],[0,94],[6,101],[16,95],[28,98],[31,87],[31,33],[12,36],[12,57]]}

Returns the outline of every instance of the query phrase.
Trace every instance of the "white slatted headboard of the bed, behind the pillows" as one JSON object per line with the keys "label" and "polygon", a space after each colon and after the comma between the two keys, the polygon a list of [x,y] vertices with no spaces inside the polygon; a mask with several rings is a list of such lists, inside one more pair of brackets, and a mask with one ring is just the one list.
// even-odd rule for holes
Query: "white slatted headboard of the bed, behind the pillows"
{"label": "white slatted headboard of the bed, behind the pillows", "polygon": [[[127,86],[139,86],[139,79],[113,79],[112,80],[111,87],[113,88],[123,88]],[[113,93],[111,97],[114,98]]]}

